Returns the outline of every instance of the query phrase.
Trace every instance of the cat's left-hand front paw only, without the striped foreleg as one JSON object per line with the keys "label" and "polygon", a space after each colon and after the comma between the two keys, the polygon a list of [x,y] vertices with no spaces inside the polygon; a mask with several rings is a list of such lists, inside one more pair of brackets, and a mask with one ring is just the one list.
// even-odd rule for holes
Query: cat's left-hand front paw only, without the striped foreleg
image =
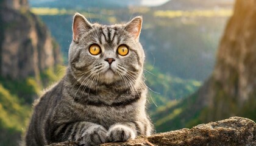
{"label": "cat's left-hand front paw only, without the striped foreleg", "polygon": [[107,142],[107,130],[101,125],[95,125],[84,131],[80,144],[99,145],[105,142]]}

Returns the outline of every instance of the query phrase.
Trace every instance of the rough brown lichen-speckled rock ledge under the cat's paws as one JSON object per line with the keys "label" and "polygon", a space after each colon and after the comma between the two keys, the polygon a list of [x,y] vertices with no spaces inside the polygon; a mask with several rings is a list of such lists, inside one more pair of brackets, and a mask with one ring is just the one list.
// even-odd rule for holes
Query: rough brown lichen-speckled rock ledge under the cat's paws
{"label": "rough brown lichen-speckled rock ledge under the cat's paws", "polygon": [[[62,142],[51,146],[77,145],[74,142]],[[200,124],[191,129],[158,133],[148,137],[137,137],[128,142],[101,144],[101,146],[153,146],[153,145],[256,145],[256,124],[243,117],[230,117],[218,122]]]}

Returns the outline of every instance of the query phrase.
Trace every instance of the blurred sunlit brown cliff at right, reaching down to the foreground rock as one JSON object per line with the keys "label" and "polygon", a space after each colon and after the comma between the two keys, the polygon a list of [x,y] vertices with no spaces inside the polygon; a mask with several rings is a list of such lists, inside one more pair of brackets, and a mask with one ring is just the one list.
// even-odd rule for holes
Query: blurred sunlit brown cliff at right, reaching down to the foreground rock
{"label": "blurred sunlit brown cliff at right, reaching down to the foreground rock", "polygon": [[[256,1],[237,0],[219,44],[213,75],[199,93],[206,119],[246,116],[256,120]],[[202,89],[201,89],[202,90]]]}

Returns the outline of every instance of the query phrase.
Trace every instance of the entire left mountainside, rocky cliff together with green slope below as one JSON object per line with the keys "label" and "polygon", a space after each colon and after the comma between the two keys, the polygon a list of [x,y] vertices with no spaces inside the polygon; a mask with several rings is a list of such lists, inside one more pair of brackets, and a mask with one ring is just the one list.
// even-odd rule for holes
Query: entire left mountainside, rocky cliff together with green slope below
{"label": "entire left mountainside, rocky cliff together with green slope below", "polygon": [[18,145],[31,105],[57,79],[59,46],[26,0],[0,1],[0,145]]}

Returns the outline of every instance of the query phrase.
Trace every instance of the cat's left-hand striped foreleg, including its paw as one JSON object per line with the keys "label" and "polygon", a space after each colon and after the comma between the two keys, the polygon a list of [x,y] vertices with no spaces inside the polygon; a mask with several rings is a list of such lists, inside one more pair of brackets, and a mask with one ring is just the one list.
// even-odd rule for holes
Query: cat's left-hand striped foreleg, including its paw
{"label": "cat's left-hand striped foreleg, including its paw", "polygon": [[91,122],[66,123],[55,130],[54,139],[76,141],[85,145],[99,145],[107,142],[107,130]]}

